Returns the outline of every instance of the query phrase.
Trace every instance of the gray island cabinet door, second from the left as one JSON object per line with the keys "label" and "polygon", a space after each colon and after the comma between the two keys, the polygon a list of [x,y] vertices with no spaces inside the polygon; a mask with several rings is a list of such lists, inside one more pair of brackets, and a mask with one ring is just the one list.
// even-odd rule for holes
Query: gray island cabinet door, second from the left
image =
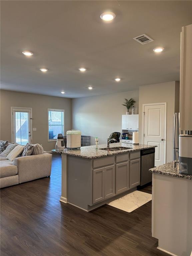
{"label": "gray island cabinet door, second from the left", "polygon": [[115,166],[107,166],[104,171],[104,197],[109,198],[115,195]]}

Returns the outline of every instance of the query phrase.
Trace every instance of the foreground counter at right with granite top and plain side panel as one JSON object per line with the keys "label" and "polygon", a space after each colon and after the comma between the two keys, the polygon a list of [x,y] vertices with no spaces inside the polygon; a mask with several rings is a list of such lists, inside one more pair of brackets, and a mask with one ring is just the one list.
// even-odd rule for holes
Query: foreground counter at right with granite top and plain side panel
{"label": "foreground counter at right with granite top and plain side panel", "polygon": [[173,256],[192,255],[192,175],[170,162],[152,172],[152,236],[158,249]]}

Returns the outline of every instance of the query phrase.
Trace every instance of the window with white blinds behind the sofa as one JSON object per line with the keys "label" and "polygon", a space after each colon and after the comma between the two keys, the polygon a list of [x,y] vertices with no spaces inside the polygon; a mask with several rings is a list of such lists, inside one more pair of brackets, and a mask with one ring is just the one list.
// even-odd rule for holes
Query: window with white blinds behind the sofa
{"label": "window with white blinds behind the sofa", "polygon": [[56,140],[58,133],[64,135],[64,110],[48,109],[48,140]]}

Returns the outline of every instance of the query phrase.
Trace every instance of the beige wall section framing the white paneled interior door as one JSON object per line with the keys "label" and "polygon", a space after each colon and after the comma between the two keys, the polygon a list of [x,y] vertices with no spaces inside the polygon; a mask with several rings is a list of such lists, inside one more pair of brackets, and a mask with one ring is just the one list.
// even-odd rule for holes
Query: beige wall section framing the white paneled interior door
{"label": "beige wall section framing the white paneled interior door", "polygon": [[179,82],[139,87],[139,142],[142,143],[143,104],[167,102],[166,162],[173,161],[173,116],[179,110]]}

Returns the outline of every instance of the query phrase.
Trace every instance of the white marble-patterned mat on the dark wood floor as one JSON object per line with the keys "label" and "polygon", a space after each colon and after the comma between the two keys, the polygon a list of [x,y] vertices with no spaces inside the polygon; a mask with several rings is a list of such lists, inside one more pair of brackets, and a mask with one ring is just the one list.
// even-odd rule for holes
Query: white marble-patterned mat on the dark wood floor
{"label": "white marble-patterned mat on the dark wood floor", "polygon": [[151,200],[151,194],[136,190],[128,195],[108,203],[108,205],[118,208],[122,211],[132,212]]}

